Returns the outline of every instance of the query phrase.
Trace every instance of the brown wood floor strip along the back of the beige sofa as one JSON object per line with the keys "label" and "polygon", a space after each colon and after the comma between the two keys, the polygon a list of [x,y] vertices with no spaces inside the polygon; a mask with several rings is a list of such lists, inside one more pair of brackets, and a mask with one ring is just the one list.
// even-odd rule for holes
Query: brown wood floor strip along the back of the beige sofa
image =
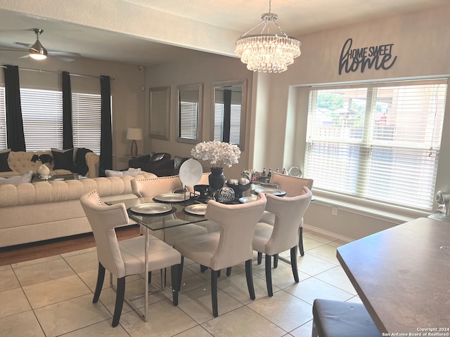
{"label": "brown wood floor strip along the back of the beige sofa", "polygon": [[[139,225],[116,228],[117,239],[139,236]],[[0,265],[11,265],[96,246],[92,233],[0,248]]]}

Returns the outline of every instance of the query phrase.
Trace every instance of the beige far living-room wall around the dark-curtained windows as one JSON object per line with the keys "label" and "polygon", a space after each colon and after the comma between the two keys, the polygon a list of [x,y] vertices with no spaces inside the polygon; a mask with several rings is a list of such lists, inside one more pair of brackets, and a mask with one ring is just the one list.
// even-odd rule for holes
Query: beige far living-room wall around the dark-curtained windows
{"label": "beige far living-room wall around the dark-curtained windows", "polygon": [[[139,67],[116,62],[90,60],[80,58],[74,62],[63,62],[56,58],[43,61],[18,58],[18,53],[0,51],[2,65],[18,65],[20,68],[46,70],[51,72],[67,71],[72,74],[85,74],[95,77],[108,75],[117,81],[111,81],[113,95],[113,169],[128,167],[131,143],[126,139],[127,128],[142,124],[144,91],[143,72]],[[45,72],[19,71],[20,86],[26,88],[45,88],[61,90],[61,77],[58,74]],[[70,77],[72,91],[82,93],[100,93],[100,79],[86,77]],[[4,71],[0,72],[0,84],[4,85]],[[138,141],[141,152],[143,141]],[[44,149],[43,149],[44,150]]]}

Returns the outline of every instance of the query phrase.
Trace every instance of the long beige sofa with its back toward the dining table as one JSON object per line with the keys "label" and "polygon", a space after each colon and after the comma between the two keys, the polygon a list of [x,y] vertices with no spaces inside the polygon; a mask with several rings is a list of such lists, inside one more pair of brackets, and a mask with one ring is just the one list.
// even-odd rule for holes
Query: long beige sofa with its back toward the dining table
{"label": "long beige sofa with its back toward the dining table", "polygon": [[103,201],[136,198],[131,179],[137,176],[85,178],[0,185],[0,247],[91,232],[79,198],[98,190]]}

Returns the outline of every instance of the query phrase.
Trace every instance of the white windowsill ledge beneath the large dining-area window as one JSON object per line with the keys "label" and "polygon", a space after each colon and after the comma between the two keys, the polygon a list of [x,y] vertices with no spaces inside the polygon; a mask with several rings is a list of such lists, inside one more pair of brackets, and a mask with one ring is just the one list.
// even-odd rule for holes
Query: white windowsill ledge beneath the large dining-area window
{"label": "white windowsill ledge beneath the large dining-area window", "polygon": [[338,207],[339,210],[383,220],[388,223],[406,223],[416,218],[426,218],[429,212],[407,209],[400,206],[387,206],[375,201],[359,200],[354,197],[314,190],[314,204]]}

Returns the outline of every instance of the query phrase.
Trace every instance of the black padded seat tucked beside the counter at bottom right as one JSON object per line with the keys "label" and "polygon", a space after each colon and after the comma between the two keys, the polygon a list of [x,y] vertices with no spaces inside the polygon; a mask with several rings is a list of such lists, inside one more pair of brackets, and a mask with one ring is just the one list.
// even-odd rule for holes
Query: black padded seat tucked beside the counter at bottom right
{"label": "black padded seat tucked beside the counter at bottom right", "polygon": [[381,336],[361,303],[316,299],[312,314],[320,337]]}

